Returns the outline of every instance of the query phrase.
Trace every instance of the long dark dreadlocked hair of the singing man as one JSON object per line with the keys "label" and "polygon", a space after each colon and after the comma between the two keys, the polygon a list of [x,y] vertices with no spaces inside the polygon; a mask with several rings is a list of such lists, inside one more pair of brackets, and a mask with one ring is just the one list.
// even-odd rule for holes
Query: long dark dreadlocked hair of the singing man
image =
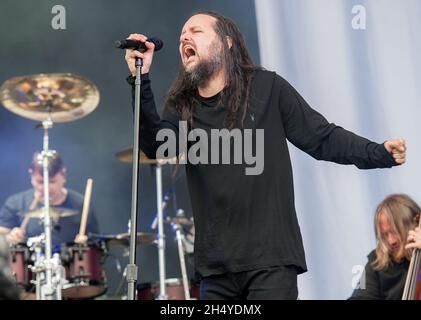
{"label": "long dark dreadlocked hair of the singing man", "polygon": [[[221,92],[221,101],[226,101],[227,116],[225,126],[232,129],[239,122],[244,126],[244,119],[249,105],[250,85],[253,71],[259,69],[253,64],[245,45],[244,37],[238,26],[231,19],[213,12],[199,11],[192,16],[204,14],[216,19],[215,32],[222,42],[226,86]],[[231,39],[231,48],[227,37]],[[193,123],[193,109],[198,103],[197,87],[185,81],[185,71],[181,66],[177,77],[172,83],[166,97],[166,105],[173,107],[181,115],[181,119]]]}

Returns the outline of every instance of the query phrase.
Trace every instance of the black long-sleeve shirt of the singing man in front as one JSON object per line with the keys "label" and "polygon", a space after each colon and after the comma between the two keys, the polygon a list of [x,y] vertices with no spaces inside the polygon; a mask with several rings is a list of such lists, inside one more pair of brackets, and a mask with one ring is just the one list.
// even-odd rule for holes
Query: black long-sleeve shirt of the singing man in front
{"label": "black long-sleeve shirt of the singing man in front", "polygon": [[[132,77],[128,81],[133,85]],[[162,143],[156,133],[167,128],[178,136],[180,116],[166,106],[160,118],[148,75],[143,75],[142,93],[140,146],[155,158]],[[209,133],[224,128],[227,101],[218,105],[219,94],[197,94],[197,99],[191,129]],[[294,265],[299,273],[307,270],[287,140],[319,160],[361,169],[395,165],[382,144],[329,123],[274,72],[255,72],[250,99],[244,129],[264,129],[263,173],[245,175],[246,164],[186,164],[195,264],[203,276],[279,265]]]}

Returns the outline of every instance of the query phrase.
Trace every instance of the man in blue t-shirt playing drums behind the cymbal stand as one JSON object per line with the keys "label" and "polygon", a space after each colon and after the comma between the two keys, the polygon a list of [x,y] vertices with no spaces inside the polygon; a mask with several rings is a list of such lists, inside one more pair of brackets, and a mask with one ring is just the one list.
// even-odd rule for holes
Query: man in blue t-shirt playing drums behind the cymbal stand
{"label": "man in blue t-shirt playing drums behind the cymbal stand", "polygon": [[[40,152],[35,152],[29,167],[32,189],[10,196],[0,209],[0,234],[6,234],[12,244],[24,243],[29,237],[44,232],[43,210],[44,184]],[[49,197],[51,216],[51,239],[53,250],[63,243],[83,243],[86,235],[79,235],[83,196],[65,187],[67,170],[58,152],[49,158]],[[95,213],[89,210],[86,233],[97,233]]]}

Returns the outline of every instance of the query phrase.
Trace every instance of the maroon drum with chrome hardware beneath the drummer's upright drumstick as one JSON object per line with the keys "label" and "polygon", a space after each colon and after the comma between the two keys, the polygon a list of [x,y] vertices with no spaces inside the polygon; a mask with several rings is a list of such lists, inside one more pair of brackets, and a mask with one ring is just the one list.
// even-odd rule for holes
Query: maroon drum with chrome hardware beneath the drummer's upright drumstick
{"label": "maroon drum with chrome hardware beneath the drummer's upright drumstick", "polygon": [[107,291],[103,270],[104,250],[100,245],[71,244],[62,250],[62,263],[66,268],[65,299],[91,299]]}

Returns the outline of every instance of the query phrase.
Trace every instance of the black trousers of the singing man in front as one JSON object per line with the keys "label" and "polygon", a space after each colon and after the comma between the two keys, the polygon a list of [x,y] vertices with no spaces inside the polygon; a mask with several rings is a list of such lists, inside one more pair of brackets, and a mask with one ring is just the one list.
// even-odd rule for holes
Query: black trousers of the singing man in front
{"label": "black trousers of the singing man in front", "polygon": [[203,277],[201,300],[296,300],[297,271],[279,266]]}

